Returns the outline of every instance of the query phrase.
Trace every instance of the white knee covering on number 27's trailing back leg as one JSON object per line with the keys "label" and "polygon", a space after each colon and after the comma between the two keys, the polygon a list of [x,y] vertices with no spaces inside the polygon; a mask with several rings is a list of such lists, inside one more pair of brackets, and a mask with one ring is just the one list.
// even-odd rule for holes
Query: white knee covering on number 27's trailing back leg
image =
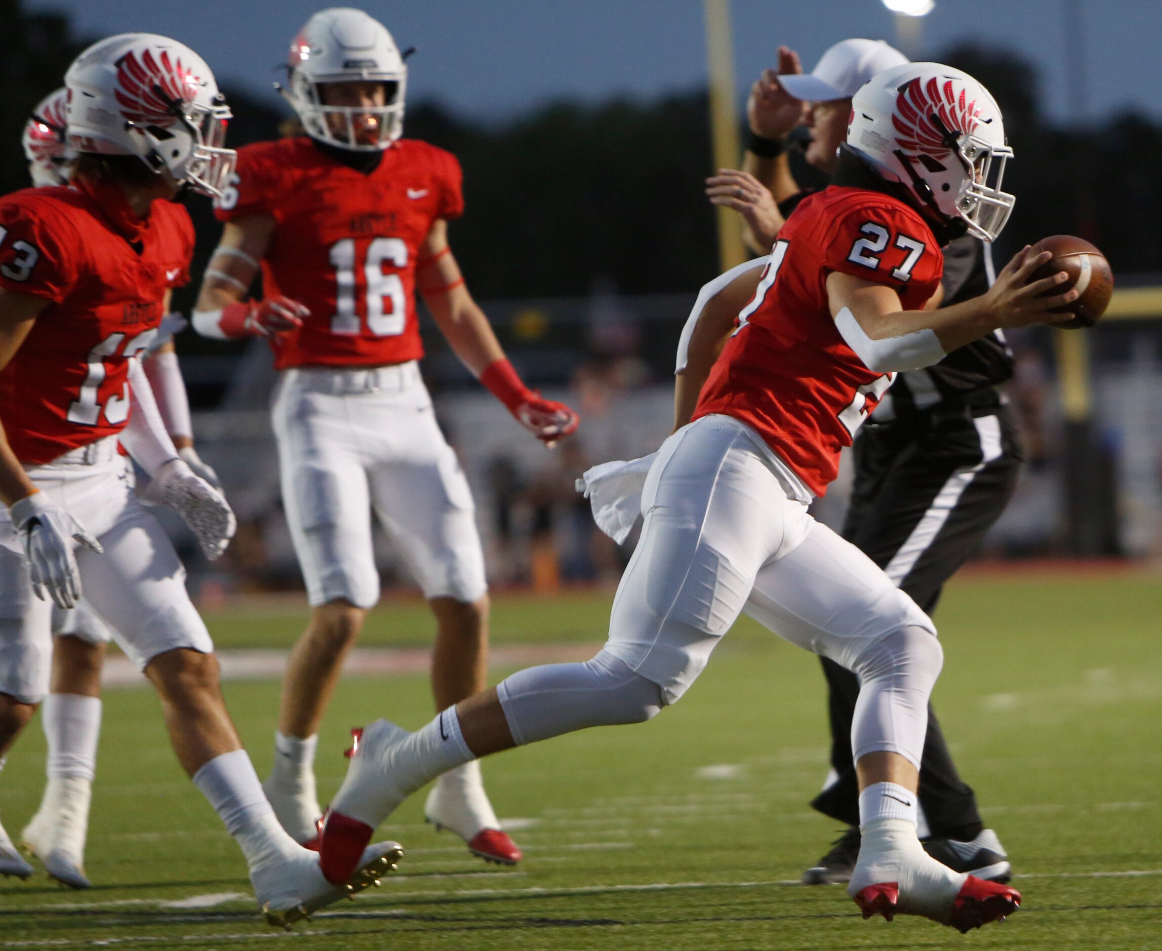
{"label": "white knee covering on number 27's trailing back leg", "polygon": [[644,723],[665,706],[661,688],[604,650],[583,664],[548,664],[496,688],[518,745],[587,727]]}

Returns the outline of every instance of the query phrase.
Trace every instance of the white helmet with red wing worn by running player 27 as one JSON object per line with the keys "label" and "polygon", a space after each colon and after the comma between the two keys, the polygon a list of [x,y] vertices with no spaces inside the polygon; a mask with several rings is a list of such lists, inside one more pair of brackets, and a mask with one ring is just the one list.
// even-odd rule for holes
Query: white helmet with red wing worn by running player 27
{"label": "white helmet with red wing worn by running player 27", "polygon": [[847,144],[982,241],[1009,221],[1016,198],[1000,181],[1013,151],[996,101],[966,72],[906,63],[877,73],[852,98]]}

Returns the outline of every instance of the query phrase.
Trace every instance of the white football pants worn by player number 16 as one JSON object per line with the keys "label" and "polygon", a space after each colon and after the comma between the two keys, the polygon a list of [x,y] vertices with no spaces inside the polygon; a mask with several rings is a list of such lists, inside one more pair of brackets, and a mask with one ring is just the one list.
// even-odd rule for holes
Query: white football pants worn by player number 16
{"label": "white football pants worn by player number 16", "polygon": [[285,371],[273,417],[282,503],[313,606],[379,600],[372,508],[425,598],[485,594],[472,493],[415,362]]}

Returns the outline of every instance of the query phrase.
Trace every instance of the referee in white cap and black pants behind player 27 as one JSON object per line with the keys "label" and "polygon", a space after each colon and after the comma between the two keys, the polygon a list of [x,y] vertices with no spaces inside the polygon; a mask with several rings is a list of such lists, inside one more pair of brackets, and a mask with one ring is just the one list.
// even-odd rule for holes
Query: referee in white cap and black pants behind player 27
{"label": "referee in white cap and black pants behind player 27", "polygon": [[[765,72],[751,90],[744,171],[724,171],[711,179],[711,201],[739,210],[753,239],[763,250],[769,248],[784,216],[806,194],[790,174],[783,138],[802,122],[811,135],[806,160],[829,176],[840,167],[849,170],[837,150],[846,134],[852,94],[876,72],[906,62],[885,43],[845,40],[803,76],[796,53],[781,48],[780,74]],[[945,305],[988,288],[994,274],[988,244],[964,235],[951,241],[944,255]],[[751,280],[758,284],[758,270]],[[745,289],[741,285],[745,281],[737,292]],[[737,305],[710,302],[698,333],[725,338],[733,329]],[[842,535],[928,614],[945,581],[980,545],[1016,487],[1020,446],[998,388],[1012,369],[1012,353],[998,330],[933,366],[901,373],[855,439],[855,485]],[[686,388],[682,399],[691,408],[708,370],[679,377],[679,388]],[[689,409],[681,421],[688,419]],[[860,848],[849,742],[859,682],[833,660],[820,660],[830,692],[832,771],[811,805],[848,828],[804,872],[808,885],[849,880]],[[1012,867],[1004,846],[994,830],[984,828],[976,795],[960,778],[932,709],[918,798],[920,834],[931,855],[957,871],[1009,880]]]}

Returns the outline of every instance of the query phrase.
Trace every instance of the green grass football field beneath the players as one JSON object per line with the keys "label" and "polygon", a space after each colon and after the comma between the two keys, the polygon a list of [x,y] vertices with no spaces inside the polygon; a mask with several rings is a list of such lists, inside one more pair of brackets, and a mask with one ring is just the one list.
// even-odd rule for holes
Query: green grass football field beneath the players
{"label": "green grass football field beneath the players", "polygon": [[[609,600],[501,598],[494,641],[596,644]],[[518,868],[486,866],[424,827],[416,796],[382,830],[407,850],[399,874],[292,935],[259,921],[241,855],[178,768],[152,694],[112,691],[88,846],[95,887],[0,880],[0,948],[1159,948],[1160,603],[1162,581],[1076,573],[977,575],[946,595],[935,705],[1025,895],[1011,921],[967,937],[863,922],[842,888],[795,884],[837,834],[806,807],[826,768],[823,679],[813,657],[744,622],[651,723],[486,763],[497,810],[519,820]],[[303,616],[268,607],[208,620],[222,646],[275,646]],[[366,642],[424,643],[429,629],[422,605],[388,603]],[[268,681],[227,685],[260,774],[277,694]],[[416,727],[430,706],[422,677],[347,681],[321,745],[324,795],[342,778],[347,727],[385,714]],[[0,786],[14,835],[42,773],[33,729]]]}

